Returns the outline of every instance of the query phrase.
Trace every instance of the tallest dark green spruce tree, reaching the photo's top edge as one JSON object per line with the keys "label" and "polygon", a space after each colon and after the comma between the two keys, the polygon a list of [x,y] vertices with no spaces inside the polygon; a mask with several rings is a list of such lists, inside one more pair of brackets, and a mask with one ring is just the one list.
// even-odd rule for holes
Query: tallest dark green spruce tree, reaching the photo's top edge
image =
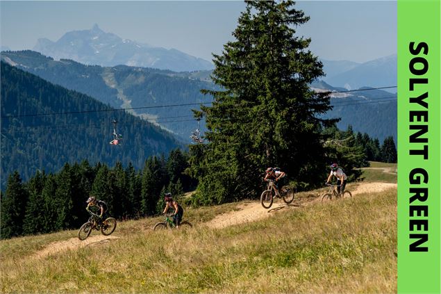
{"label": "tallest dark green spruce tree, reaching the photo's top edge", "polygon": [[[291,180],[317,181],[324,147],[320,142],[329,99],[310,90],[323,75],[308,51],[310,39],[295,27],[308,21],[293,1],[246,1],[235,40],[214,55],[213,95],[206,115],[209,147],[197,160],[199,202],[213,204],[254,197],[263,170],[279,166]],[[194,147],[196,148],[196,147]]]}

